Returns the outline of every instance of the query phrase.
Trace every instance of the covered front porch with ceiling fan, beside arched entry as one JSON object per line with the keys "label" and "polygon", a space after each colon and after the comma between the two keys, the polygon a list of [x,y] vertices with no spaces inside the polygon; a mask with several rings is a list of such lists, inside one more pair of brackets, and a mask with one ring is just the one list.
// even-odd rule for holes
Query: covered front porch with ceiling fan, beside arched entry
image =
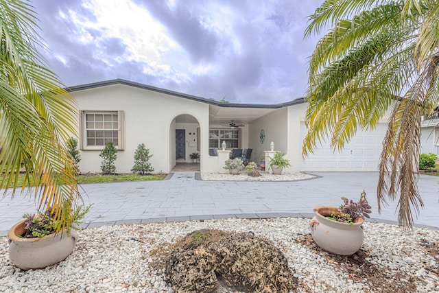
{"label": "covered front porch with ceiling fan, beside arched entry", "polygon": [[[274,143],[275,150],[287,154],[286,157],[292,161],[292,169],[298,171],[298,135],[305,107],[300,104],[303,105],[301,99],[277,105],[213,102],[209,104],[208,127],[205,127],[204,121],[197,121],[191,115],[176,117],[176,125],[185,129],[189,139],[186,141],[186,158],[177,159],[171,172],[182,169],[182,172],[193,170],[226,173],[228,171],[223,169],[224,161],[229,159],[233,149],[252,149],[251,161],[259,163],[265,159],[267,162],[271,142]],[[296,106],[291,107],[292,105]],[[296,131],[295,134],[289,133],[290,130]],[[222,143],[226,143],[224,150]],[[200,156],[197,163],[192,163],[190,157],[194,152]]]}

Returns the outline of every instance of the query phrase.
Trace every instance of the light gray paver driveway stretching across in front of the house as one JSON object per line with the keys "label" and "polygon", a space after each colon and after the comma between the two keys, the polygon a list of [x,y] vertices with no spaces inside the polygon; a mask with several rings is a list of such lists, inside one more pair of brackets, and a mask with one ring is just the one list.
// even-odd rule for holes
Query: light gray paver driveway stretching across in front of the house
{"label": "light gray paver driveway stretching across in front of the house", "polygon": [[[363,189],[372,205],[371,218],[394,224],[397,202],[377,211],[377,178],[368,173],[315,173],[311,180],[291,182],[202,181],[193,172],[175,173],[169,180],[82,185],[85,204],[93,203],[85,227],[206,220],[213,218],[311,217],[313,207],[339,205],[340,197],[357,200]],[[420,175],[420,195],[425,207],[415,219],[418,226],[439,228],[439,177]],[[30,196],[0,200],[0,235],[33,213]],[[379,219],[379,220],[378,220]]]}

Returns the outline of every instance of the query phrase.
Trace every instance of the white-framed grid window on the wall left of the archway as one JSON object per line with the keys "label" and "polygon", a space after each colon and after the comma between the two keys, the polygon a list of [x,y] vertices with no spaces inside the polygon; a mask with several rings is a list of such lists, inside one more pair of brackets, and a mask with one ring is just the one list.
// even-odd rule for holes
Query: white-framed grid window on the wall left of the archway
{"label": "white-framed grid window on the wall left of the archway", "polygon": [[123,150],[123,111],[82,111],[82,150],[102,150],[112,141]]}

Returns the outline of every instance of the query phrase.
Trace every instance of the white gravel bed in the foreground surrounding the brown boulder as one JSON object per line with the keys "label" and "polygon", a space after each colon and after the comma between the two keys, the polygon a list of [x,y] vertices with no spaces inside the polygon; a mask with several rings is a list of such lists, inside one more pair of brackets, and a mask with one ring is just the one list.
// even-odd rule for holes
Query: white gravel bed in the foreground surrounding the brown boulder
{"label": "white gravel bed in the foreground surrounding the brown boulder", "polygon": [[[102,226],[79,231],[80,239],[65,261],[43,270],[23,271],[12,266],[8,238],[0,237],[0,292],[173,292],[161,271],[150,267],[151,252],[165,242],[200,228],[252,231],[272,240],[296,270],[298,292],[379,292],[372,283],[359,283],[346,276],[325,253],[295,241],[308,234],[309,219],[206,220]],[[411,234],[397,226],[364,224],[368,262],[377,271],[410,276],[416,292],[439,292],[439,259],[428,253],[425,244],[439,243],[439,231],[415,228]],[[437,246],[436,246],[437,247]],[[437,257],[437,256],[436,256]],[[408,280],[395,280],[397,283]]]}

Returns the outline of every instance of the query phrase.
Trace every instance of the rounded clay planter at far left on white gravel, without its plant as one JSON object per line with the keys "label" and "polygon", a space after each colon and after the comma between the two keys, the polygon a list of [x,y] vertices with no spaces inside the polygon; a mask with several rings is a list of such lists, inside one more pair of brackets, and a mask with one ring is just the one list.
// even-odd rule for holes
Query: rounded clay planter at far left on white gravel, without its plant
{"label": "rounded clay planter at far left on white gravel, without its plant", "polygon": [[43,238],[21,238],[25,232],[25,220],[15,224],[8,232],[9,257],[14,266],[22,270],[45,268],[63,261],[75,247],[78,233],[66,232],[47,235]]}

